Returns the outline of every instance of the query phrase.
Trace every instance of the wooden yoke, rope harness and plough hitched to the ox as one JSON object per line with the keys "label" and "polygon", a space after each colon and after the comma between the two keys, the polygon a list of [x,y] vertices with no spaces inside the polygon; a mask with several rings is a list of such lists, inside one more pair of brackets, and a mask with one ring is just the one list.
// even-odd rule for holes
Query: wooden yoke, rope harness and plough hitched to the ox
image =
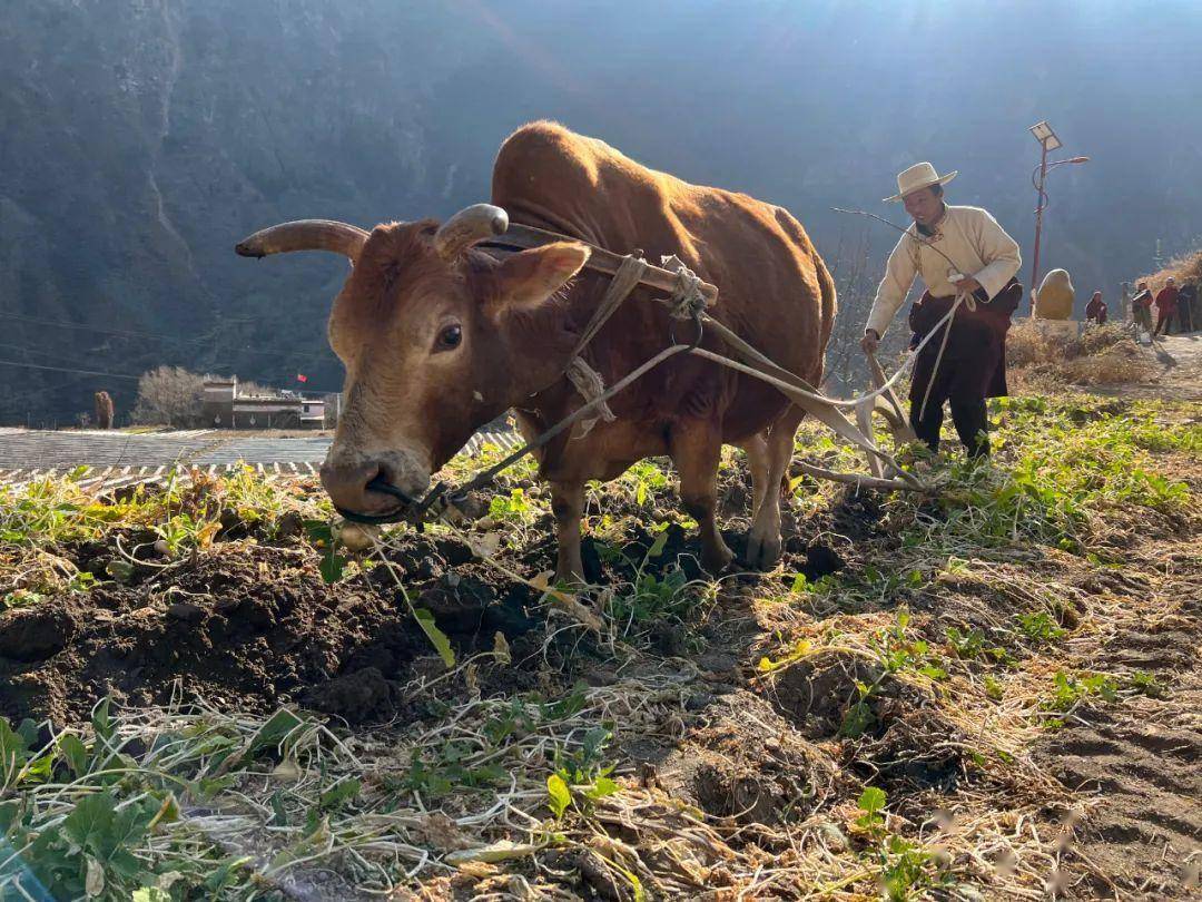
{"label": "wooden yoke, rope harness and plough hitched to the ox", "polygon": [[[577,239],[532,226],[511,224],[505,235],[489,239],[482,247],[488,248],[490,251],[505,254],[514,253],[514,249],[529,249],[560,241]],[[588,244],[587,242],[581,243]],[[944,346],[947,344],[946,333],[951,332],[950,320],[964,299],[964,296],[957,297],[952,309],[910,351],[898,372],[887,381],[876,358],[869,355],[875,387],[873,391],[865,392],[857,398],[840,400],[826,397],[815,386],[811,386],[795,373],[778,366],[710,316],[707,310],[716,302],[718,289],[702,280],[676,255],[665,256],[661,259],[660,266],[654,266],[643,259],[642,251],[619,256],[603,248],[588,247],[591,249],[591,254],[585,267],[608,274],[612,278],[605,296],[581,333],[581,338],[564,372],[564,375],[576,387],[584,403],[569,416],[453,491],[445,482],[439,482],[424,497],[416,499],[387,482],[382,476],[376,476],[367,485],[367,488],[395,498],[400,502],[400,506],[391,514],[381,515],[358,514],[338,508],[337,510],[343,517],[356,523],[381,524],[409,522],[421,529],[428,520],[436,521],[441,518],[448,508],[459,506],[469,493],[489,485],[498,474],[526,455],[543,447],[575,423],[579,422],[582,425],[581,433],[577,437],[579,438],[588,434],[597,420],[612,422],[615,417],[607,404],[609,398],[678,354],[692,354],[772,385],[797,407],[833,429],[837,435],[862,449],[868,456],[868,464],[871,470],[870,476],[864,476],[834,473],[813,464],[799,463],[804,473],[820,479],[850,482],[863,487],[882,489],[900,488],[918,492],[930,491],[917,476],[904,470],[892,455],[876,446],[876,443],[871,438],[871,414],[877,410],[883,413],[895,433],[909,428],[909,426],[905,426],[905,416],[902,413],[900,403],[893,393],[893,385],[900,379],[903,373],[914,366],[918,352],[930,342],[939,328],[948,324],[948,328],[945,330],[944,344],[939,351],[939,357],[942,358]],[[694,337],[689,342],[679,342],[676,338],[674,330],[671,330],[670,339],[672,343],[667,348],[606,388],[601,375],[581,357],[581,354],[630,296],[630,292],[639,285],[668,292],[668,297],[657,299],[668,307],[673,320],[689,320],[694,324]],[[972,308],[970,309],[975,309],[975,303],[972,303]],[[719,337],[738,360],[702,348],[701,339],[707,328]],[[939,362],[936,360],[936,369],[938,366]],[[853,423],[847,420],[840,413],[840,408],[855,409],[857,422]]]}

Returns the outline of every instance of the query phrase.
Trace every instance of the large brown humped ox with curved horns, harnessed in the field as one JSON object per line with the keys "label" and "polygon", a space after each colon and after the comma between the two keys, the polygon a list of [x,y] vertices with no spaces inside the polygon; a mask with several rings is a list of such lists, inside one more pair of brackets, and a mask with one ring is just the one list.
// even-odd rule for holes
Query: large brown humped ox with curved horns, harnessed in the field
{"label": "large brown humped ox with curved horns, harnessed in the field", "polygon": [[[523,126],[493,168],[493,203],[512,221],[619,254],[674,254],[720,290],[712,315],[793,373],[817,384],[835,310],[831,275],[786,210],[746,195],[700,188],[648,170],[554,123]],[[465,212],[466,213],[466,212]],[[344,510],[381,514],[397,502],[369,491],[383,476],[411,497],[475,429],[508,409],[528,437],[576,410],[564,376],[581,330],[608,279],[582,273],[589,251],[557,243],[498,261],[472,245],[501,221],[457,215],[392,222],[370,235],[340,222],[286,224],[239,245],[250,256],[335,250],[352,272],[334,301],[329,340],[346,366],[346,403],[321,476]],[[573,280],[573,277],[578,278]],[[662,350],[673,320],[649,289],[636,289],[583,356],[607,385]],[[662,295],[660,295],[662,296]],[[676,324],[678,332],[691,325]],[[683,338],[684,336],[682,336]],[[716,340],[704,346],[722,350]],[[748,452],[754,518],[746,558],[780,552],[780,492],[802,417],[776,390],[682,355],[611,402],[612,422],[576,428],[538,456],[551,482],[559,578],[579,578],[588,480],[611,480],[635,462],[667,455],[680,498],[701,528],[702,563],[731,551],[714,517],[722,444]]]}

